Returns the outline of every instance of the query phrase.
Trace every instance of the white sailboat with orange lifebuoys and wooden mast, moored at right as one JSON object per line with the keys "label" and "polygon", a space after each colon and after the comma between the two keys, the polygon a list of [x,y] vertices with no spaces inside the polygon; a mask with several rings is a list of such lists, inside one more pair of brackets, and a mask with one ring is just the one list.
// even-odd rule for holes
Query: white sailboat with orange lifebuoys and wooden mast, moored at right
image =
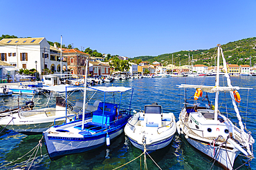
{"label": "white sailboat with orange lifebuoys and wooden mast, moored at right", "polygon": [[[226,78],[228,87],[219,86],[219,57],[220,53],[223,59],[223,66],[226,70]],[[250,135],[250,131],[244,131],[244,125],[241,122],[239,109],[236,105],[236,100],[239,102],[239,89],[250,89],[242,87],[233,87],[230,83],[230,76],[227,73],[226,60],[223,56],[222,49],[218,45],[217,58],[217,77],[214,86],[206,85],[179,85],[179,87],[194,88],[196,93],[194,99],[201,96],[202,92],[215,93],[214,108],[208,105],[200,107],[200,103],[188,103],[185,100],[185,105],[179,115],[179,121],[176,123],[179,134],[184,134],[186,140],[199,151],[210,156],[214,162],[219,162],[225,169],[232,169],[235,158],[242,153],[251,160],[253,157],[253,143],[255,140]],[[219,92],[230,92],[232,105],[234,106],[235,114],[239,120],[239,127],[233,125],[232,121],[221,114],[218,109]],[[234,95],[235,94],[235,95]]]}

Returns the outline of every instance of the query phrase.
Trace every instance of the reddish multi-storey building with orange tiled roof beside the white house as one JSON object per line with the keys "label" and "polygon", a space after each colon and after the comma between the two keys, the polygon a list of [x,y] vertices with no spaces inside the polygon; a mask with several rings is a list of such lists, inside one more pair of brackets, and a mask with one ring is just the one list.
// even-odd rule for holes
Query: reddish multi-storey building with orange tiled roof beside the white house
{"label": "reddish multi-storey building with orange tiled roof beside the white house", "polygon": [[62,54],[66,56],[68,70],[70,70],[71,74],[85,74],[85,61],[86,57],[90,56],[89,54],[76,49],[63,49]]}

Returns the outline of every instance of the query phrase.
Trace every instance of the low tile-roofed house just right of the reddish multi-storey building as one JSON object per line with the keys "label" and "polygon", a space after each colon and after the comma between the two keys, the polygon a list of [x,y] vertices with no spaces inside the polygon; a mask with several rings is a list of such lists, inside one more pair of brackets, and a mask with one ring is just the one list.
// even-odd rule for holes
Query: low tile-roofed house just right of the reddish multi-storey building
{"label": "low tile-roofed house just right of the reddish multi-storey building", "polygon": [[96,61],[89,61],[89,74],[91,76],[109,76],[110,66]]}

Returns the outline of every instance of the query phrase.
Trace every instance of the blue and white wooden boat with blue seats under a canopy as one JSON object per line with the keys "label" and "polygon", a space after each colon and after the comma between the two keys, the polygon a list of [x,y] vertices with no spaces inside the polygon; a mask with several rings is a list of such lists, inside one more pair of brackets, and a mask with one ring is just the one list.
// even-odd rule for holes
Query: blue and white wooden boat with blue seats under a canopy
{"label": "blue and white wooden boat with blue seats under a canopy", "polygon": [[[86,113],[84,110],[82,120],[77,119],[63,125],[55,125],[44,131],[46,149],[51,160],[68,154],[89,151],[105,144],[110,145],[113,138],[122,134],[127,120],[131,117],[131,98],[126,105],[115,103],[115,101],[121,102],[124,92],[133,91],[131,87],[88,88],[98,93],[103,92],[103,102],[98,103],[95,111]],[[110,94],[111,97],[107,98],[109,95],[106,94]],[[114,98],[118,95],[120,100],[115,100]],[[110,100],[112,102],[109,102]]]}

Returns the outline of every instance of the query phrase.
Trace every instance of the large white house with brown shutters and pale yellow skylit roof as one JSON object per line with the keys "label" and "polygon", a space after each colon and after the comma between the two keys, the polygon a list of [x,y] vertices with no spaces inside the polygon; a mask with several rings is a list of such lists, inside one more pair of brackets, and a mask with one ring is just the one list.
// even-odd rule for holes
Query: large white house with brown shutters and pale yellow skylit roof
{"label": "large white house with brown shutters and pale yellow skylit roof", "polygon": [[42,74],[44,68],[51,70],[51,65],[54,65],[54,70],[57,70],[57,65],[60,61],[52,60],[53,56],[59,56],[60,51],[53,50],[44,37],[42,38],[17,38],[17,39],[2,39],[0,41],[1,61],[6,61],[14,65],[17,70],[36,69],[39,74]]}

